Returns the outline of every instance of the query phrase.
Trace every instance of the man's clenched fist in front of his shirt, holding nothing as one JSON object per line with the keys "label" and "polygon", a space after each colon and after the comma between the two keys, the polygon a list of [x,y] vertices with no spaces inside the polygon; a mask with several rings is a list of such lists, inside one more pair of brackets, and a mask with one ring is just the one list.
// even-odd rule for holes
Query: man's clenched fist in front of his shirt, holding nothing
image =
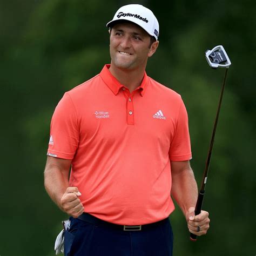
{"label": "man's clenched fist in front of his shirt, holding nothing", "polygon": [[68,187],[60,199],[62,210],[73,218],[77,218],[84,212],[84,207],[78,197],[81,196],[77,187]]}

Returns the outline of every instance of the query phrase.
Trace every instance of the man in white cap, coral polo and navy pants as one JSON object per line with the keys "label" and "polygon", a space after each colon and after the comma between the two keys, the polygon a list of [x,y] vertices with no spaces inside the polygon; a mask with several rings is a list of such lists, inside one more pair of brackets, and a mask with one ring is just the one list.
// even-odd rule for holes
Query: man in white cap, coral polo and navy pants
{"label": "man in white cap, coral polo and navy pants", "polygon": [[172,255],[170,193],[190,232],[205,234],[210,222],[205,211],[194,216],[186,109],[146,75],[159,44],[153,12],[125,5],[107,27],[111,64],[66,92],[53,114],[45,188],[71,215],[65,255]]}

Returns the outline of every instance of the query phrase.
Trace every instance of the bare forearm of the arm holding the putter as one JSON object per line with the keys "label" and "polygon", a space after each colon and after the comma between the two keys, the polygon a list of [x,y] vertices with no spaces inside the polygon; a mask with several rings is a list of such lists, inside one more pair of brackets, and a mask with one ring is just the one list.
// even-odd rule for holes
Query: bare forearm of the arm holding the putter
{"label": "bare forearm of the arm holding the putter", "polygon": [[171,194],[184,215],[186,215],[188,208],[196,205],[198,188],[191,168],[172,174]]}

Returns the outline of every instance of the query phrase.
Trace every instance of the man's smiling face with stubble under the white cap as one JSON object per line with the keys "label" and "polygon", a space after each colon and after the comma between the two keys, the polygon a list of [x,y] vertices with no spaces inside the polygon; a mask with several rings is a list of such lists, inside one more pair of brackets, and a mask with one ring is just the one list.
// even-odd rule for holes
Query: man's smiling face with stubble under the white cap
{"label": "man's smiling face with stubble under the white cap", "polygon": [[147,58],[156,51],[158,41],[150,46],[150,36],[132,23],[119,23],[110,33],[111,65],[119,69],[146,68]]}

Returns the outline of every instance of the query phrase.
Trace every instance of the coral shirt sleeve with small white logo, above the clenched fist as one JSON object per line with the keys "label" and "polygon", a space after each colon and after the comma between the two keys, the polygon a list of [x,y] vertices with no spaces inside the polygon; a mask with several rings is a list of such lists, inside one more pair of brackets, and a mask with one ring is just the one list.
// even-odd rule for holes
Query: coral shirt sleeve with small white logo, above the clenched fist
{"label": "coral shirt sleeve with small white logo, above the clenched fist", "polygon": [[75,106],[66,92],[51,119],[48,156],[73,159],[79,144],[79,127]]}

